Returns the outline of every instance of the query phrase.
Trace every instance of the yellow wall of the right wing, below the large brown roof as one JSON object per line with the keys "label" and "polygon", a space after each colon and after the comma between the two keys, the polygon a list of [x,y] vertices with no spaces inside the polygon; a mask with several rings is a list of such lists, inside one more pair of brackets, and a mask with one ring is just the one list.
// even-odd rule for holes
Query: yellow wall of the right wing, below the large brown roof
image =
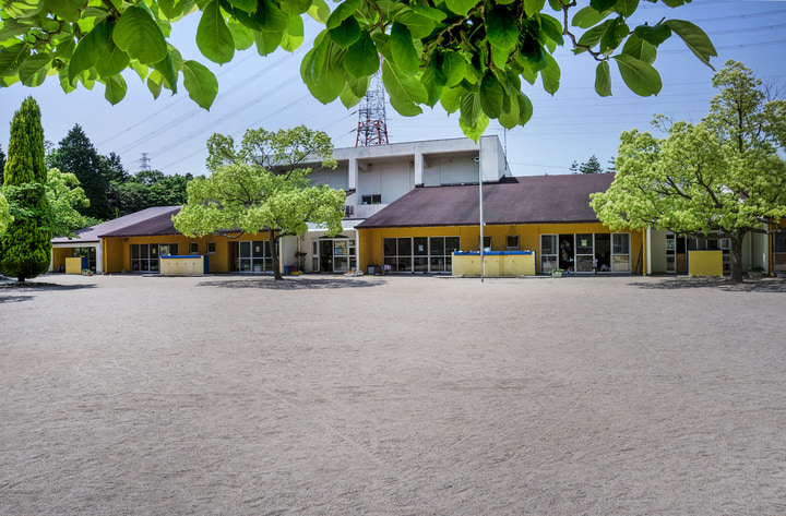
{"label": "yellow wall of the right wing, below the large brown roof", "polygon": [[[540,235],[560,233],[609,233],[600,223],[588,224],[526,224],[505,226],[485,226],[484,237],[491,237],[492,251],[505,251],[505,237],[519,235],[519,247],[522,251],[536,251],[536,269],[540,272]],[[479,251],[480,228],[478,226],[450,226],[424,228],[374,228],[358,229],[360,269],[366,271],[369,265],[383,263],[382,241],[385,238],[405,237],[460,237],[462,251]],[[640,254],[643,254],[643,233],[631,231],[631,272],[635,272]],[[640,272],[643,268],[643,256]],[[479,274],[479,272],[478,272]]]}

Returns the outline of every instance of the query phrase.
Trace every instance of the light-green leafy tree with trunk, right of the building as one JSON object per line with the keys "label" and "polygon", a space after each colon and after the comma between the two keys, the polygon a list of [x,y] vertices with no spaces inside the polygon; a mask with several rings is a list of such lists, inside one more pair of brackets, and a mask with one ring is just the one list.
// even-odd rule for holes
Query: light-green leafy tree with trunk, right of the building
{"label": "light-green leafy tree with trunk, right of the building", "polygon": [[734,61],[713,84],[720,93],[701,123],[676,122],[664,139],[622,133],[615,181],[591,204],[611,229],[730,239],[730,279],[741,281],[746,235],[786,231],[786,101],[767,99],[761,81]]}

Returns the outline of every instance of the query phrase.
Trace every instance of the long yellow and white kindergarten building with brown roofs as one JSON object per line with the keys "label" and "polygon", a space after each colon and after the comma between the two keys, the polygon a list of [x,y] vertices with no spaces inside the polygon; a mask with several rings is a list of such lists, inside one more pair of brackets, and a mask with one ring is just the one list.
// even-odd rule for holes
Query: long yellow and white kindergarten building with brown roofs
{"label": "long yellow and white kindergarten building with brown roofs", "polygon": [[[340,235],[311,225],[285,237],[282,273],[451,274],[453,252],[483,248],[531,251],[535,274],[684,273],[689,250],[719,250],[728,241],[687,239],[666,231],[610,231],[590,207],[612,173],[513,177],[497,136],[337,148],[335,169],[308,164],[314,183],[346,193]],[[179,206],[154,207],[52,240],[52,269],[84,256],[97,273],[157,273],[164,255],[206,256],[210,273],[271,273],[267,232],[189,238],[171,221]],[[786,271],[786,238],[752,236],[745,266]]]}

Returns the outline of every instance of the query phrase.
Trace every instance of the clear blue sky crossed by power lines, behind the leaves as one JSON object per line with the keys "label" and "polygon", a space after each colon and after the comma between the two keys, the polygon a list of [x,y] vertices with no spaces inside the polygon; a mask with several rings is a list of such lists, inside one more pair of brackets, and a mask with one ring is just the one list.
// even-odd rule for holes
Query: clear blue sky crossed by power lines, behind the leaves
{"label": "clear blue sky crossed by power lines, behind the leaves", "polygon": [[[580,2],[580,3],[588,3]],[[184,89],[166,93],[156,100],[139,77],[128,73],[129,93],[120,104],[104,99],[97,84],[92,92],[80,88],[64,94],[56,77],[38,88],[16,84],[0,91],[0,144],[8,149],[9,127],[22,100],[32,95],[41,107],[46,140],[57,144],[79,123],[99,153],[120,155],[130,172],[141,169],[146,153],[153,169],[165,173],[205,173],[205,142],[214,132],[242,137],[248,128],[267,130],[306,124],[325,131],[336,147],[355,145],[356,109],[340,101],[322,105],[312,99],[299,76],[299,63],[320,31],[307,26],[306,44],[294,55],[277,51],[269,57],[250,49],[237,52],[233,62],[218,67],[203,58],[195,45],[196,16],[174,27],[174,44],[187,59],[198,59],[216,73],[218,97],[210,111],[199,108]],[[741,61],[765,83],[786,85],[786,1],[693,0],[669,9],[662,3],[641,2],[631,26],[663,17],[688,20],[712,38],[718,57],[716,70],[729,60]],[[188,19],[187,19],[188,20]],[[535,115],[525,127],[504,131],[492,122],[486,134],[499,136],[513,175],[569,173],[570,165],[597,156],[602,165],[616,155],[619,135],[633,128],[650,129],[654,113],[675,120],[699,121],[707,112],[713,71],[701,63],[677,37],[662,45],[655,67],[664,87],[656,97],[639,97],[627,89],[612,69],[611,97],[595,94],[595,61],[558,49],[561,87],[555,96],[539,81],[523,92],[533,100]],[[406,118],[388,106],[391,143],[462,137],[457,115],[448,116],[439,106],[416,118]]]}

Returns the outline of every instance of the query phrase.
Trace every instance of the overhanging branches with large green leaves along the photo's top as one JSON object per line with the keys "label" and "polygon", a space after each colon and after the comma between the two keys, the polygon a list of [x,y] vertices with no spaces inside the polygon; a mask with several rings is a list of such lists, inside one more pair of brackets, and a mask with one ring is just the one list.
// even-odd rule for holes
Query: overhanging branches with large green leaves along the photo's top
{"label": "overhanging branches with large green leaves along the photo's top", "polygon": [[[656,0],[650,0],[654,2]],[[663,0],[671,8],[690,0]],[[217,92],[215,75],[171,46],[171,25],[189,13],[200,22],[200,52],[216,63],[236,50],[257,47],[262,56],[294,51],[303,41],[303,16],[325,28],[306,53],[300,74],[311,94],[327,104],[356,105],[380,68],[393,108],[403,116],[440,104],[461,111],[464,133],[477,140],[498,119],[505,128],[529,120],[533,106],[522,81],[555,94],[558,46],[598,61],[595,88],[611,94],[614,61],[639,95],[660,91],[653,67],[657,47],[677,34],[708,64],[715,48],[703,31],[682,20],[635,20],[639,0],[73,0],[4,2],[0,83],[38,86],[58,75],[66,92],[79,83],[105,86],[112,104],[128,89],[121,72],[132,69],[154,97],[178,84],[207,109]],[[639,12],[640,13],[640,12]]]}

